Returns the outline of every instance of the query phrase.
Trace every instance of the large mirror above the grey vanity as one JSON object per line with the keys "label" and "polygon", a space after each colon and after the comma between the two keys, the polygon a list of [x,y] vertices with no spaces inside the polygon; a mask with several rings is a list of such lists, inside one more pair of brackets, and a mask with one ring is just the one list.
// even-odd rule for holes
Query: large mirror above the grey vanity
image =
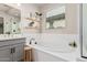
{"label": "large mirror above the grey vanity", "polygon": [[0,34],[19,34],[20,31],[20,10],[0,3]]}

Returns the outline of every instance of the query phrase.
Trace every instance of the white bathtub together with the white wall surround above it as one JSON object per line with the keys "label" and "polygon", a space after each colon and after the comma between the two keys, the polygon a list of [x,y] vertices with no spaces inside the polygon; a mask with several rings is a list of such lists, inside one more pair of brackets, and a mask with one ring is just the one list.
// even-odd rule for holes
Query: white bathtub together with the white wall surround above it
{"label": "white bathtub together with the white wall surround above it", "polygon": [[[80,56],[79,35],[77,34],[36,34],[33,36],[37,44],[32,43],[34,59],[37,62],[76,61]],[[28,37],[26,44],[29,45]],[[69,47],[69,42],[76,42],[77,47]]]}

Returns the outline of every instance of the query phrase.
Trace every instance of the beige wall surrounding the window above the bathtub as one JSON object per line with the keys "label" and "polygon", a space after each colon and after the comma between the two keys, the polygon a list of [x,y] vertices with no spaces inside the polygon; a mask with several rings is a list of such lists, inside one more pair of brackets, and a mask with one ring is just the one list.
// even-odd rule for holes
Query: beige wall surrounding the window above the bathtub
{"label": "beige wall surrounding the window above the bathtub", "polygon": [[[66,28],[64,29],[54,29],[54,30],[45,30],[45,14],[47,11],[52,9],[56,9],[61,6],[66,6]],[[78,3],[67,3],[67,4],[44,4],[41,8],[41,12],[43,13],[42,28],[44,33],[57,33],[57,34],[77,34],[78,33]]]}

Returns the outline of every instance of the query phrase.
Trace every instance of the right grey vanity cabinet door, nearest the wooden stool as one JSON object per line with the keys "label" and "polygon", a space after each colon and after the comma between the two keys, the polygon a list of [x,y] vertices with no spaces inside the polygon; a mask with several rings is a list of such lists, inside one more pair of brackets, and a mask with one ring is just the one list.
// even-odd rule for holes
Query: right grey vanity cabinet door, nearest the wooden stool
{"label": "right grey vanity cabinet door, nearest the wooden stool", "polygon": [[14,62],[21,61],[23,57],[24,45],[20,43],[14,45],[13,48],[14,48],[13,61]]}

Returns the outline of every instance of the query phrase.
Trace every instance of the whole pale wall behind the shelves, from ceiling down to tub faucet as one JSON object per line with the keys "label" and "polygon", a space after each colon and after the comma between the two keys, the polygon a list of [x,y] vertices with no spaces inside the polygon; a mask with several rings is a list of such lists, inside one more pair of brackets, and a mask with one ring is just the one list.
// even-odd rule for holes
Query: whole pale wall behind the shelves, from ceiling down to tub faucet
{"label": "whole pale wall behind the shelves, from ceiling down to tub faucet", "polygon": [[35,29],[23,29],[23,26],[26,24],[25,18],[30,18],[30,13],[34,13],[39,11],[39,8],[33,3],[22,3],[21,4],[21,26],[22,26],[22,34],[26,37],[26,44],[30,43],[30,40],[34,37],[36,41],[40,40],[40,30]]}

